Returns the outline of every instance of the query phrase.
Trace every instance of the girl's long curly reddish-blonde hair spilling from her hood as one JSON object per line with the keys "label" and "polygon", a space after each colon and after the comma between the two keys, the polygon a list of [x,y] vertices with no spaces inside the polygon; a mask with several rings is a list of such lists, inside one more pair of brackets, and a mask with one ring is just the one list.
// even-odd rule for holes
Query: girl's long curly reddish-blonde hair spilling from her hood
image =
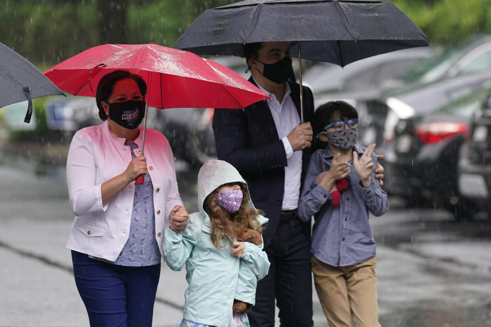
{"label": "girl's long curly reddish-blonde hair spilling from her hood", "polygon": [[[242,204],[239,211],[231,214],[230,220],[222,218],[222,210],[225,210],[216,203],[218,198],[218,189],[210,193],[203,203],[205,212],[211,220],[211,241],[217,248],[224,247],[224,239],[229,238],[231,241],[244,228],[262,231],[261,224],[257,220],[257,215],[264,215],[264,212],[255,209],[249,200],[247,186],[242,182],[226,183],[224,185],[238,184],[242,190]],[[220,185],[220,187],[223,185]]]}

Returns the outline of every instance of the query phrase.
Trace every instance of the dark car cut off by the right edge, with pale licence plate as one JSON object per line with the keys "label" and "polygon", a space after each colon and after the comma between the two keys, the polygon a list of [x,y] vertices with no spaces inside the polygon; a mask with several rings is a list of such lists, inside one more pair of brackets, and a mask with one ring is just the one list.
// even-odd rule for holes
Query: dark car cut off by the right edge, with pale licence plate
{"label": "dark car cut off by the right edge, with pale licence plate", "polygon": [[[459,152],[460,194],[475,205],[475,211],[491,214],[491,97],[472,115],[467,140]],[[470,212],[472,214],[473,211]]]}

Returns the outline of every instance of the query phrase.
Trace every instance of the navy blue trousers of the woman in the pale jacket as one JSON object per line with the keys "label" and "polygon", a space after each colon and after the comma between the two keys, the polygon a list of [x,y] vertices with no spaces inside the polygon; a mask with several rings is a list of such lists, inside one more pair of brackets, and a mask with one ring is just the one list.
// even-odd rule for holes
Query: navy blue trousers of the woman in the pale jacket
{"label": "navy blue trousers of the woman in the pale jacket", "polygon": [[75,284],[91,327],[150,327],[160,264],[127,267],[72,251]]}

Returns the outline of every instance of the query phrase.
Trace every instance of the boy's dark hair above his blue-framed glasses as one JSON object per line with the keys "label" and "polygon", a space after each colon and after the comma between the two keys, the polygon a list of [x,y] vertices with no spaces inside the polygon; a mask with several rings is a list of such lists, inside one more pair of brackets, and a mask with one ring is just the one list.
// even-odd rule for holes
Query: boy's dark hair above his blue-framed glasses
{"label": "boy's dark hair above his blue-framed glasses", "polygon": [[341,120],[350,120],[358,118],[356,109],[345,101],[329,101],[321,104],[314,112],[312,119],[312,128],[314,135],[324,130],[324,127],[334,121],[334,114],[339,112]]}

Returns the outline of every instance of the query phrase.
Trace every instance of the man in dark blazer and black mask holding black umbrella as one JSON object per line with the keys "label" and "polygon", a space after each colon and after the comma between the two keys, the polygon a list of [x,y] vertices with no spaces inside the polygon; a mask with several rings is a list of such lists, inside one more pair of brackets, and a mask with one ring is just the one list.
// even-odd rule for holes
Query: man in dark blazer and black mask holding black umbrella
{"label": "man in dark blazer and black mask holding black umbrella", "polygon": [[300,221],[296,209],[313,142],[314,98],[304,86],[306,122],[300,122],[300,86],[288,82],[293,74],[288,42],[245,44],[244,57],[249,81],[271,99],[244,110],[215,109],[213,130],[218,158],[237,168],[255,207],[269,218],[263,239],[270,271],[258,282],[248,316],[252,327],[273,327],[276,298],[282,326],[310,327],[310,222]]}

